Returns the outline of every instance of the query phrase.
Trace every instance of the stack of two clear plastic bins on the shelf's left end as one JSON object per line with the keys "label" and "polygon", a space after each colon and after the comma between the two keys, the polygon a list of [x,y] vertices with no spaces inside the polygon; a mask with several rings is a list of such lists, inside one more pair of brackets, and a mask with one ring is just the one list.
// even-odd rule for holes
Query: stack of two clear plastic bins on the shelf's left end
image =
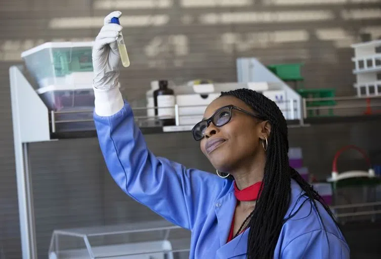
{"label": "stack of two clear plastic bins on the shelf's left end", "polygon": [[[21,54],[46,106],[53,111],[70,111],[57,113],[56,121],[92,119],[91,112],[82,112],[94,108],[92,48],[92,41],[46,42]],[[82,130],[80,123],[59,125],[62,131]],[[83,127],[94,125],[85,122]]]}

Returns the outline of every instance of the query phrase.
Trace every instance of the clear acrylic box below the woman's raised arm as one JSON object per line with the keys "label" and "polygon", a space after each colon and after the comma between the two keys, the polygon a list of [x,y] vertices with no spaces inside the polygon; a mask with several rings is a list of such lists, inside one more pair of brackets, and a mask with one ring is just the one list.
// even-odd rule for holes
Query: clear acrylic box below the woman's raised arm
{"label": "clear acrylic box below the woman's raised arm", "polygon": [[167,221],[54,230],[49,259],[174,259],[188,255],[190,232]]}

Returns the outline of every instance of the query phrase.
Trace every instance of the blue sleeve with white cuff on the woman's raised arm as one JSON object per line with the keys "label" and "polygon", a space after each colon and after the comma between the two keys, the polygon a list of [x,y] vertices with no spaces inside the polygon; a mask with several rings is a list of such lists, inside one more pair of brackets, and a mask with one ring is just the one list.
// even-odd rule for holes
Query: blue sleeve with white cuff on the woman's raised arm
{"label": "blue sleeve with white cuff on the woman's raised arm", "polygon": [[164,219],[192,230],[227,181],[154,156],[118,89],[95,89],[94,120],[106,165],[116,184]]}

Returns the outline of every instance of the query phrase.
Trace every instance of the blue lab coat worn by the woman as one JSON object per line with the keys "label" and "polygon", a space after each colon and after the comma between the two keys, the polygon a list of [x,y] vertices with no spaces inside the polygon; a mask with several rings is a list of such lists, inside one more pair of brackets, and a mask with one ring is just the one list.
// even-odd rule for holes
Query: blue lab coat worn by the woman
{"label": "blue lab coat worn by the woman", "polygon": [[[248,229],[226,243],[236,207],[233,182],[152,154],[128,103],[95,124],[102,153],[116,184],[164,219],[192,232],[190,258],[246,258]],[[274,258],[349,258],[349,247],[328,213],[311,206],[291,180],[287,220]],[[302,197],[301,197],[302,196]],[[322,225],[324,223],[325,229]]]}

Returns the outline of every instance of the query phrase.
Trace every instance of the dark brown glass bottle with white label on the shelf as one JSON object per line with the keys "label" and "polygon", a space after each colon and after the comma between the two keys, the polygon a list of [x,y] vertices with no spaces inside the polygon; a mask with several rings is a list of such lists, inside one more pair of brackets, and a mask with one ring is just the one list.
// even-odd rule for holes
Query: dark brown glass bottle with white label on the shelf
{"label": "dark brown glass bottle with white label on the shelf", "polygon": [[161,120],[162,125],[176,125],[175,93],[172,89],[168,88],[167,80],[159,80],[159,89],[153,92],[153,100],[156,107],[155,115]]}

